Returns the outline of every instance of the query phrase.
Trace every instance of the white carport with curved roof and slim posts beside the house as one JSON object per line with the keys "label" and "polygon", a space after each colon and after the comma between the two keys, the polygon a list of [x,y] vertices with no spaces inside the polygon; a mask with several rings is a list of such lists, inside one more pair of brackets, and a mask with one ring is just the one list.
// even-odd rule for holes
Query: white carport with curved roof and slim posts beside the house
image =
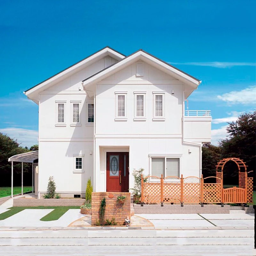
{"label": "white carport with curved roof and slim posts beside the house", "polygon": [[21,163],[21,195],[23,195],[23,163],[32,163],[32,192],[34,192],[34,161],[38,159],[38,150],[11,156],[8,161],[12,162],[12,193],[13,197],[13,162]]}

